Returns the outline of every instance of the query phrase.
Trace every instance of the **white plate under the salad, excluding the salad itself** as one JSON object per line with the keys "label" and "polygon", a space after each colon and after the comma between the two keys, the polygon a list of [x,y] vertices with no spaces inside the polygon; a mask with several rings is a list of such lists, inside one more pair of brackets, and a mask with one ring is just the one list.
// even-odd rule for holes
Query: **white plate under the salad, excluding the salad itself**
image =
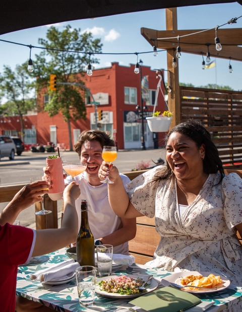
{"label": "white plate under the salad, excluding the salad itself", "polygon": [[[149,277],[149,275],[146,275],[146,276],[144,276],[144,275],[126,275],[126,276],[128,276],[128,277],[133,277],[133,278],[138,278],[138,277],[139,277],[139,278],[143,278],[144,281]],[[137,295],[121,295],[121,294],[119,294],[119,293],[115,293],[115,292],[106,292],[106,291],[100,289],[100,286],[98,285],[98,283],[99,283],[100,281],[103,281],[103,280],[106,280],[106,279],[110,279],[110,278],[117,278],[117,277],[120,277],[120,275],[112,275],[112,276],[106,276],[106,277],[103,277],[103,278],[98,278],[98,279],[96,280],[95,292],[98,293],[99,295],[102,295],[102,296],[105,296],[105,297],[118,297],[118,298],[132,297],[132,298],[134,298],[134,297],[142,296],[143,294],[146,294],[146,293],[148,293],[148,292],[151,292],[151,291],[155,290],[155,289],[159,286],[159,283],[158,283],[154,278],[152,278],[152,279],[148,282],[148,284],[150,284],[150,285],[149,285],[149,287],[146,288],[146,289],[147,289],[147,292],[144,292],[144,293],[142,293],[142,294],[137,294]]]}

